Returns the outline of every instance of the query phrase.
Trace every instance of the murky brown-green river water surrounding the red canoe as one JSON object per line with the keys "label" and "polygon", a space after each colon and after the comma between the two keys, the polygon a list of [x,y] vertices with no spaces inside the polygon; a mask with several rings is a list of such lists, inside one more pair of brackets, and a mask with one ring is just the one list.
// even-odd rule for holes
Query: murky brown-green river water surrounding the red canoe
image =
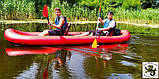
{"label": "murky brown-green river water surrounding the red canoe", "polygon": [[[88,31],[95,24],[75,24],[70,31]],[[119,24],[120,26],[120,24]],[[142,62],[159,62],[159,36],[131,32],[121,44],[21,46],[5,40],[7,28],[42,31],[46,24],[1,25],[1,79],[141,79]]]}

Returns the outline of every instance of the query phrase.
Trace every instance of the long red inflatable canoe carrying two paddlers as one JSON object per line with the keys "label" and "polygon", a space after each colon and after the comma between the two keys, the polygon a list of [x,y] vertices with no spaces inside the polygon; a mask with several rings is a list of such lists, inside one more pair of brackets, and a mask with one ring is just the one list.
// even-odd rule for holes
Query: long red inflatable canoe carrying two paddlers
{"label": "long red inflatable canoe carrying two paddlers", "polygon": [[[4,37],[12,43],[24,45],[73,45],[73,44],[92,44],[95,36],[76,36],[84,32],[68,32],[67,36],[37,36],[41,32],[23,32],[15,29],[6,29]],[[98,44],[121,43],[130,39],[127,30],[121,30],[119,36],[97,36]]]}

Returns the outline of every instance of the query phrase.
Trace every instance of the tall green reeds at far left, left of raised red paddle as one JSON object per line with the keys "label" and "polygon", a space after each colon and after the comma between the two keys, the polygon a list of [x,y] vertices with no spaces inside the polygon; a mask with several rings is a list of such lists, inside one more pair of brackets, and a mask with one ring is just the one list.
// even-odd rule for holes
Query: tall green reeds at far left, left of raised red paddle
{"label": "tall green reeds at far left, left of raised red paddle", "polygon": [[29,19],[35,17],[33,2],[25,0],[0,1],[0,19]]}

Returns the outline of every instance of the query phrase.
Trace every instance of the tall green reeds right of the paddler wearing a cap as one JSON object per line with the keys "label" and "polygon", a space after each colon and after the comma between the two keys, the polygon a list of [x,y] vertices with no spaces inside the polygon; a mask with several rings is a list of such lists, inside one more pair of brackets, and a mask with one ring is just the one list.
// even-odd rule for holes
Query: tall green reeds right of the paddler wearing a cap
{"label": "tall green reeds right of the paddler wearing a cap", "polygon": [[138,9],[125,10],[122,8],[114,9],[115,19],[118,21],[133,21],[137,23],[157,23],[159,24],[159,9]]}

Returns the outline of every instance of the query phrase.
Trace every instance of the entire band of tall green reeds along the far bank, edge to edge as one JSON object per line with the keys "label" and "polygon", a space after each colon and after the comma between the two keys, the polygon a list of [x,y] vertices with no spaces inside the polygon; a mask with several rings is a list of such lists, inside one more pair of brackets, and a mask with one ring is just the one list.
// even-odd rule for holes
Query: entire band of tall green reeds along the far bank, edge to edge
{"label": "entire band of tall green reeds along the far bank, edge to edge", "polygon": [[[44,18],[44,16],[36,16],[35,2],[27,0],[5,0],[0,1],[0,19],[36,19]],[[49,18],[54,20],[54,8],[59,7],[62,10],[62,15],[67,16],[69,21],[96,21],[98,17],[98,9],[90,10],[78,5],[70,6],[67,2],[61,5],[59,0],[52,0],[49,9]],[[159,9],[137,9],[127,10],[119,8],[102,8],[102,15],[106,17],[106,12],[112,10],[115,13],[116,21],[131,21],[137,23],[153,23],[159,24]],[[42,9],[40,10],[40,13]]]}

